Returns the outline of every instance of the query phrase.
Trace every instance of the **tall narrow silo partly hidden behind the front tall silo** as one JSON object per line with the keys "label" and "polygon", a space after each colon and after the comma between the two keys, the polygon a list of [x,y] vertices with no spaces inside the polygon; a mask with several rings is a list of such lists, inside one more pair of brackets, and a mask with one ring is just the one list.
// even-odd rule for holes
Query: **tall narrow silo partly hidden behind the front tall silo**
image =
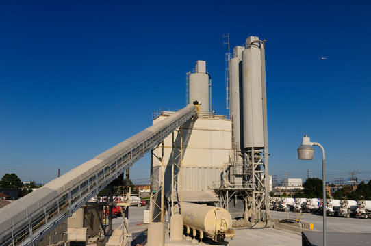
{"label": "tall narrow silo partly hidden behind the front tall silo", "polygon": [[242,145],[242,51],[244,46],[235,46],[233,49],[233,58],[229,63],[229,85],[231,100],[231,119],[233,124],[233,148],[241,151]]}

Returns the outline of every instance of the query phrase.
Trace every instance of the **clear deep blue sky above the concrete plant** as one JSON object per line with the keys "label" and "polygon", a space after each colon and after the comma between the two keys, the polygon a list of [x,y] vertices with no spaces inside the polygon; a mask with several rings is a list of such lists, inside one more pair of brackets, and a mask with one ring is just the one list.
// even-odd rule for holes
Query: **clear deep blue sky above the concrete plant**
{"label": "clear deep blue sky above the concrete plant", "polygon": [[[49,182],[185,106],[197,59],[225,109],[225,52],[266,38],[270,173],[320,176],[298,161],[304,133],[328,180],[371,178],[370,1],[1,1],[0,176]],[[326,60],[320,57],[327,57]],[[133,180],[149,177],[149,156]]]}

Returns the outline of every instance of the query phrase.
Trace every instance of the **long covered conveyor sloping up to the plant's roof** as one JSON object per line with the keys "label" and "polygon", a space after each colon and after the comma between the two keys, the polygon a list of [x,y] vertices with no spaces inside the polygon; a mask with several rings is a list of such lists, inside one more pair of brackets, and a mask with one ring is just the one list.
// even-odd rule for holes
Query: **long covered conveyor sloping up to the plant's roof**
{"label": "long covered conveyor sloping up to the plant's roof", "polygon": [[34,245],[196,115],[187,107],[0,209],[0,245]]}

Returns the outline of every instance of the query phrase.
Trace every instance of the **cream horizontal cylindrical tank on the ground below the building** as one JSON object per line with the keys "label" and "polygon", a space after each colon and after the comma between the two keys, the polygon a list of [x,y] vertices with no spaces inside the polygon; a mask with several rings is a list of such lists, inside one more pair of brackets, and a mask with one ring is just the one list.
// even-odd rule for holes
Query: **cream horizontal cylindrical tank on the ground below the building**
{"label": "cream horizontal cylindrical tank on the ground below the building", "polygon": [[224,208],[182,202],[181,215],[184,226],[202,230],[205,236],[214,240],[234,236],[232,217]]}

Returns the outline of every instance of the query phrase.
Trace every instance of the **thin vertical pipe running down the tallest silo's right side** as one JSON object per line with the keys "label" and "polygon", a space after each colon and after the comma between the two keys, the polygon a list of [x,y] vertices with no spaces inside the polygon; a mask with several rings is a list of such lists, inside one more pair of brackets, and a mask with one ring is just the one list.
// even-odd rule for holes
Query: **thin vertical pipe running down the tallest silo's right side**
{"label": "thin vertical pipe running down the tallest silo's right side", "polygon": [[265,44],[261,42],[261,92],[263,100],[263,133],[264,133],[264,186],[266,187],[266,215],[270,217],[270,210],[267,209],[269,204],[269,173],[268,173],[268,124],[267,124],[267,92],[266,92],[266,57]]}

